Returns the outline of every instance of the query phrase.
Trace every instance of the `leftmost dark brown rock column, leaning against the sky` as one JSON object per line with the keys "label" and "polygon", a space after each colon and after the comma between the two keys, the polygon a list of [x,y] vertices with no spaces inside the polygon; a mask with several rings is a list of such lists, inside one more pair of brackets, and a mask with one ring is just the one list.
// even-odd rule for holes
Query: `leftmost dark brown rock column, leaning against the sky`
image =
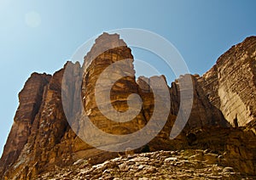
{"label": "leftmost dark brown rock column, leaning against the sky", "polygon": [[19,158],[31,136],[32,124],[42,104],[44,87],[50,78],[51,76],[46,74],[33,73],[20,92],[20,105],[0,160],[0,176]]}

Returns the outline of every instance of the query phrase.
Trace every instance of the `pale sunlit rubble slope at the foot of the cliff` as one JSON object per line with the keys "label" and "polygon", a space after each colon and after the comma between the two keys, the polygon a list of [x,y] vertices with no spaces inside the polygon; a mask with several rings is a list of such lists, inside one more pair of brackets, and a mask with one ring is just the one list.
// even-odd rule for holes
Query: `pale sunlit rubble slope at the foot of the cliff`
{"label": "pale sunlit rubble slope at the foot of the cliff", "polygon": [[227,166],[223,155],[188,149],[123,155],[102,164],[78,160],[73,166],[55,166],[36,179],[255,179]]}

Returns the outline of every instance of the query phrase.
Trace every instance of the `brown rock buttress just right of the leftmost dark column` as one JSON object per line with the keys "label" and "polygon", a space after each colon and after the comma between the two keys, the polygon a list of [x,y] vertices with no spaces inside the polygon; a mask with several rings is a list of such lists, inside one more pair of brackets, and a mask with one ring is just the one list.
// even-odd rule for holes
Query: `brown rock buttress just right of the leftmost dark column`
{"label": "brown rock buttress just right of the leftmost dark column", "polygon": [[[26,143],[20,149],[20,155],[13,163],[9,164],[9,169],[4,172],[6,177],[27,179],[37,174],[44,166],[56,163],[55,157],[58,156],[60,150],[58,146],[67,131],[67,121],[61,108],[62,73],[63,70],[60,70],[52,77],[47,76],[48,81],[44,82],[44,87],[40,89],[41,101],[38,101],[40,102],[37,106],[38,110],[34,114],[30,126],[27,127],[29,136],[27,136]],[[37,80],[32,84],[39,84],[39,82]],[[30,91],[36,92],[34,87],[28,89],[26,86],[21,92],[26,95],[29,95]],[[29,98],[26,100],[29,100]],[[21,103],[20,106],[22,106]],[[23,117],[21,115],[18,118],[25,123]],[[9,139],[15,140],[15,138]],[[67,147],[65,146],[64,149],[67,149]],[[61,151],[64,149],[61,149]]]}

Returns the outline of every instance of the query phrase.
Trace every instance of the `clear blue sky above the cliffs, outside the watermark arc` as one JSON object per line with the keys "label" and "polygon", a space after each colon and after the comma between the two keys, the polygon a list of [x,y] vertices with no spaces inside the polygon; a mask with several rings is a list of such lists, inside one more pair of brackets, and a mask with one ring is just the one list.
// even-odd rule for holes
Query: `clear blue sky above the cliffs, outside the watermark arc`
{"label": "clear blue sky above the cliffs, outside the watermark arc", "polygon": [[90,37],[125,27],[154,31],[201,75],[232,45],[256,35],[255,7],[253,0],[0,0],[0,155],[26,79],[61,69]]}

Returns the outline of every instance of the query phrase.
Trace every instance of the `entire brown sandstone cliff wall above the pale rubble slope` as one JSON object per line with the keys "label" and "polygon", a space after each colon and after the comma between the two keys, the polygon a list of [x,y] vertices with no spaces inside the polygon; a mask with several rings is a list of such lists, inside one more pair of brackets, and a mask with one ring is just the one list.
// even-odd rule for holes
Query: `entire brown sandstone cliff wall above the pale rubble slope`
{"label": "entire brown sandstone cliff wall above the pale rubble slope", "polygon": [[[212,149],[225,152],[226,162],[236,171],[255,173],[255,49],[256,37],[248,37],[224,53],[204,76],[191,76],[194,89],[192,111],[183,132],[173,140],[169,134],[179,109],[180,89],[178,80],[172,82],[169,87],[171,110],[165,127],[146,146],[134,151]],[[128,110],[127,98],[131,93],[139,94],[143,104],[131,121],[116,122],[102,115],[98,109],[95,87],[102,71],[123,59],[130,60],[102,79],[108,83],[124,72],[130,75],[113,84],[110,91],[113,109],[119,112]],[[67,66],[72,70],[63,80]],[[80,84],[79,77],[82,77]],[[20,105],[0,160],[0,177],[31,179],[49,172],[55,166],[72,166],[79,159],[97,164],[116,157],[117,153],[102,151],[84,143],[73,132],[67,118],[73,118],[75,132],[82,131],[83,110],[79,109],[78,104],[72,104],[65,115],[63,96],[67,102],[82,98],[84,112],[103,132],[124,135],[137,132],[147,125],[155,103],[154,93],[148,84],[160,78],[165,79],[164,76],[139,77],[136,82],[131,49],[119,39],[119,35],[107,33],[96,39],[84,57],[82,67],[79,63],[68,62],[53,76],[33,73],[19,94]],[[97,92],[102,96],[100,104],[104,103],[105,90],[102,87]],[[162,104],[166,106],[166,102]]]}

